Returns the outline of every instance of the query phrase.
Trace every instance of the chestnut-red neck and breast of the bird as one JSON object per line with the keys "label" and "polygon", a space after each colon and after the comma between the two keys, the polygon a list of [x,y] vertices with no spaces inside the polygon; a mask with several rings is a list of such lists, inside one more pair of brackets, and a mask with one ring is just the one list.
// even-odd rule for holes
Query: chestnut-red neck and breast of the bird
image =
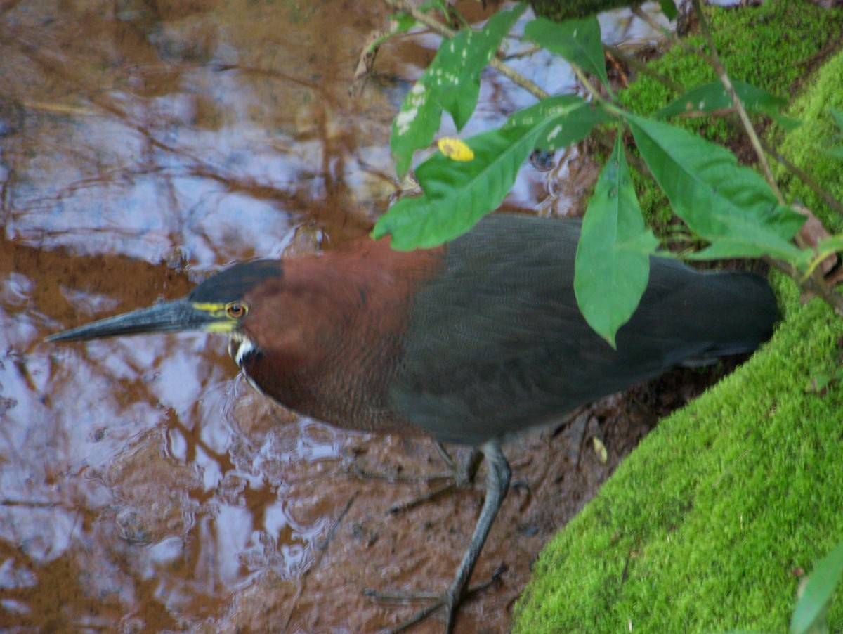
{"label": "chestnut-red neck and breast of the bird", "polygon": [[436,250],[404,253],[371,240],[285,262],[283,277],[245,298],[250,312],[231,357],[250,384],[300,414],[421,433],[390,406],[389,384],[416,293],[442,266]]}

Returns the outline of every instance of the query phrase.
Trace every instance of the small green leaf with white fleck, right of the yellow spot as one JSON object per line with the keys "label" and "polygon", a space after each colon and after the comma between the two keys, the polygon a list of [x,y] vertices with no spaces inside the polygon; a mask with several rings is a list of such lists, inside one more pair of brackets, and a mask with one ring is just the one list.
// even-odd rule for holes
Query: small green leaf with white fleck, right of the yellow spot
{"label": "small green leaf with white fleck, right of the yellow spot", "polygon": [[576,94],[561,94],[542,99],[529,108],[519,110],[509,117],[504,127],[530,125],[539,118],[549,119],[550,123],[546,128],[547,132],[536,141],[535,147],[540,150],[555,150],[588,137],[594,126],[609,121],[611,116]]}

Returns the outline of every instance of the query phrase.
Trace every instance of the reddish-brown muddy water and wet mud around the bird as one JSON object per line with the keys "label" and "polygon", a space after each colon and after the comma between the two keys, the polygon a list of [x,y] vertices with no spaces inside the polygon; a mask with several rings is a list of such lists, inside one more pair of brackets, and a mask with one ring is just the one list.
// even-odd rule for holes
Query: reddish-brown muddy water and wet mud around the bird
{"label": "reddish-brown muddy water and wet mud around the bird", "polygon": [[[377,631],[416,606],[364,588],[447,585],[482,478],[390,515],[430,487],[353,468],[440,471],[428,443],[284,411],[238,377],[222,338],[42,341],[178,297],[233,261],[366,233],[398,186],[391,118],[438,46],[389,44],[352,97],[386,14],[336,0],[0,4],[3,631]],[[615,41],[641,28],[603,22]],[[514,63],[552,93],[573,89],[557,62]],[[467,132],[530,103],[489,74]],[[526,166],[507,207],[564,212],[582,190],[568,177],[593,173],[575,154],[546,173]],[[507,631],[540,546],[706,380],[638,386],[513,441],[518,486],[475,579],[505,569],[458,631]]]}

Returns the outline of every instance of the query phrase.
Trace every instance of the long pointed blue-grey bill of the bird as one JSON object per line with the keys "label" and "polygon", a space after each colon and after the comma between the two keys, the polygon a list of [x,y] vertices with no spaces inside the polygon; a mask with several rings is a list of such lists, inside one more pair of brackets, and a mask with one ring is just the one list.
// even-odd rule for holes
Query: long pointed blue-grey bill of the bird
{"label": "long pointed blue-grey bill of the bird", "polygon": [[176,299],[64,330],[48,336],[46,341],[88,341],[110,336],[181,330],[225,330],[219,328],[225,320],[221,320],[216,311],[207,308],[207,304],[195,304],[186,298]]}

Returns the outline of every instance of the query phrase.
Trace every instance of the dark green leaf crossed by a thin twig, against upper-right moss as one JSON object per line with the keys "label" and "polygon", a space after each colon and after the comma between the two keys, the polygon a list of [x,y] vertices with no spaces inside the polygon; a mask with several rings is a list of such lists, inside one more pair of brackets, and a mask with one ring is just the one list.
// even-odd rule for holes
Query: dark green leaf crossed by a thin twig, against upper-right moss
{"label": "dark green leaf crossed by a thin twig, against upper-right moss", "polygon": [[[732,85],[744,108],[749,112],[770,116],[783,128],[790,131],[800,125],[800,121],[781,115],[783,105],[787,99],[777,97],[766,90],[755,88],[751,83],[735,81]],[[732,107],[732,99],[726,92],[726,87],[719,81],[704,83],[674,99],[654,115],[659,119],[668,116],[683,115],[688,112],[712,112]]]}

